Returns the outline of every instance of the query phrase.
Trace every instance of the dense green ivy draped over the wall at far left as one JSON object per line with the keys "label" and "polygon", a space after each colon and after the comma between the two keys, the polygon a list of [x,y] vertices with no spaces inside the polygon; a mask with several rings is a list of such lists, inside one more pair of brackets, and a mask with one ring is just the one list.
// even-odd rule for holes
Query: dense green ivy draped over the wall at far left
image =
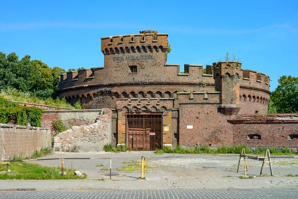
{"label": "dense green ivy draped over the wall at far left", "polygon": [[28,123],[31,126],[41,126],[42,109],[37,107],[24,107],[17,103],[7,102],[0,98],[0,123],[7,123],[9,117],[16,116],[18,125],[26,125]]}

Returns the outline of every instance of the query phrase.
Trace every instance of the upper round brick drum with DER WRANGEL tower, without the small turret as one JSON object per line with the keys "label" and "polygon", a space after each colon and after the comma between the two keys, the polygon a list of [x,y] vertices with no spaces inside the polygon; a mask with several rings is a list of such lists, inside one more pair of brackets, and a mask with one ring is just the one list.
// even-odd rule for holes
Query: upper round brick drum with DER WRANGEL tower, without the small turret
{"label": "upper round brick drum with DER WRANGEL tower, without the small turret", "polygon": [[[214,66],[185,64],[180,73],[179,64],[167,64],[167,34],[140,31],[140,34],[101,38],[104,67],[84,69],[60,77],[60,98],[74,103],[80,100],[87,109],[116,108],[116,99],[167,98],[177,92],[214,92]],[[133,72],[131,67],[137,67]],[[269,77],[265,74],[240,69],[242,113],[252,113],[252,99],[259,98],[259,113],[267,111]],[[241,99],[240,99],[241,100]],[[252,100],[254,101],[254,100]],[[258,100],[256,100],[258,101]],[[263,103],[263,104],[261,104]],[[256,107],[256,106],[255,106]],[[149,108],[149,107],[148,107]],[[248,111],[248,112],[245,112]]]}

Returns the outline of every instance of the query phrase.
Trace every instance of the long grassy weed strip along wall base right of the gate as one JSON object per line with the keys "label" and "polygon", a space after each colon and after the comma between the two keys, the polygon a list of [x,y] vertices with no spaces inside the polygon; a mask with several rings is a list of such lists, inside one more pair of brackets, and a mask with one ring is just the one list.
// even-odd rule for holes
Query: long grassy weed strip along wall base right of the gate
{"label": "long grassy weed strip along wall base right of the gate", "polygon": [[[180,153],[180,154],[240,154],[242,148],[245,149],[246,154],[258,154],[264,155],[266,149],[258,149],[250,150],[247,146],[221,146],[217,149],[212,149],[210,147],[196,147],[196,148],[187,148],[184,149],[180,145],[177,145],[176,148],[170,149],[168,147],[164,147],[163,149],[155,150],[155,154],[163,154],[163,153]],[[270,149],[271,155],[290,155],[290,154],[298,154],[294,150],[289,148],[271,148]]]}

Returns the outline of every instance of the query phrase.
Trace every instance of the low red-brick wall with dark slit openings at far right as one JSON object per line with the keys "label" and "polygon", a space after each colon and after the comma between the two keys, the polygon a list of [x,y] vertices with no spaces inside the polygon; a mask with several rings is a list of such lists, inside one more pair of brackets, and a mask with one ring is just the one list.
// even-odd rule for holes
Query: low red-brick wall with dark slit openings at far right
{"label": "low red-brick wall with dark slit openings at far right", "polygon": [[233,145],[298,148],[298,115],[238,115],[233,123]]}

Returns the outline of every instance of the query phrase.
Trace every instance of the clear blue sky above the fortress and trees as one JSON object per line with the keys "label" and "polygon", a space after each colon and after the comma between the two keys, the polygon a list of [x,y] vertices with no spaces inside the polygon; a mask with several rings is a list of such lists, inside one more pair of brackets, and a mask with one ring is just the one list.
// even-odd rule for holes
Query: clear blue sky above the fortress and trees
{"label": "clear blue sky above the fortress and trees", "polygon": [[0,0],[0,51],[50,67],[103,66],[100,37],[168,33],[167,63],[212,64],[228,51],[242,68],[265,73],[271,91],[298,77],[298,1]]}

